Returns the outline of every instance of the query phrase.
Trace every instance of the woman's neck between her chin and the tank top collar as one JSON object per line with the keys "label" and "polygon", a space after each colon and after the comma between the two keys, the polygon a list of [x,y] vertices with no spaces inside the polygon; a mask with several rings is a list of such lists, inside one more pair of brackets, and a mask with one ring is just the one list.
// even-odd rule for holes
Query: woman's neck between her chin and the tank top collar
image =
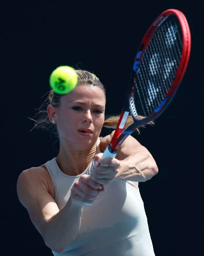
{"label": "woman's neck between her chin and the tank top collar", "polygon": [[91,163],[97,148],[97,142],[84,150],[75,150],[66,140],[60,140],[60,150],[56,162],[60,170],[70,176],[84,172]]}

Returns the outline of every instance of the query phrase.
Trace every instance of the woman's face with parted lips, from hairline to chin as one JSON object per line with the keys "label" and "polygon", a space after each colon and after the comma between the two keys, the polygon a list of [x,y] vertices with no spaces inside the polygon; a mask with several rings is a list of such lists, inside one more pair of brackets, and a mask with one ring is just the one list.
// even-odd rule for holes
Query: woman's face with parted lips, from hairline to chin
{"label": "woman's face with parted lips, from hairline to chin", "polygon": [[77,148],[94,144],[104,123],[105,105],[105,94],[97,86],[79,85],[62,96],[55,107],[59,136]]}

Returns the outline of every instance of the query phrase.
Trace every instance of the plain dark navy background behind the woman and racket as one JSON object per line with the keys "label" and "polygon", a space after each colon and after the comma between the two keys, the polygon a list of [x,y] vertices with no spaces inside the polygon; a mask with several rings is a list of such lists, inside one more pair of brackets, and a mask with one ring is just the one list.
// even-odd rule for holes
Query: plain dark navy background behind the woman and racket
{"label": "plain dark navy background behind the woman and racket", "polygon": [[[61,65],[94,72],[106,87],[106,115],[120,114],[142,37],[170,8],[183,12],[191,29],[187,72],[155,125],[133,136],[148,148],[159,168],[155,177],[139,184],[156,256],[199,255],[198,180],[204,169],[202,1],[10,1],[9,5],[4,24],[11,90],[3,95],[1,106],[9,115],[2,134],[7,143],[0,255],[52,255],[16,194],[20,172],[57,154],[56,139],[49,132],[29,132],[33,122],[28,119],[46,99],[51,72]],[[104,128],[102,136],[109,132]]]}

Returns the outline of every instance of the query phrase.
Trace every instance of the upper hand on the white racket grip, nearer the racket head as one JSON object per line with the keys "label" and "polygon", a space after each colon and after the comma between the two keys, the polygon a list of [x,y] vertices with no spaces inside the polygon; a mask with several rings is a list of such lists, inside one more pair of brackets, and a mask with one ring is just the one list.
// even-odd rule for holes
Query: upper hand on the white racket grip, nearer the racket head
{"label": "upper hand on the white racket grip, nearer the racket head", "polygon": [[[91,170],[91,180],[99,184],[106,185],[113,181],[116,174],[119,172],[120,161],[116,158],[101,159],[103,153],[99,153],[94,157],[94,167]],[[102,165],[108,166],[102,166]]]}

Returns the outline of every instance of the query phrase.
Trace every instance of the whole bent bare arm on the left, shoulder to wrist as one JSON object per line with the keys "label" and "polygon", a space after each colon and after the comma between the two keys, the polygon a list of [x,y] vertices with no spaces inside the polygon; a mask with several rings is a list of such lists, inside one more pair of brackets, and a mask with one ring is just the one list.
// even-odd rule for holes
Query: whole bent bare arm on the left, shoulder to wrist
{"label": "whole bent bare arm on the left, shoulder to wrist", "polygon": [[49,186],[52,186],[49,173],[41,167],[31,168],[19,175],[17,193],[45,244],[55,252],[62,252],[77,236],[83,205],[70,198],[59,210],[48,192]]}

